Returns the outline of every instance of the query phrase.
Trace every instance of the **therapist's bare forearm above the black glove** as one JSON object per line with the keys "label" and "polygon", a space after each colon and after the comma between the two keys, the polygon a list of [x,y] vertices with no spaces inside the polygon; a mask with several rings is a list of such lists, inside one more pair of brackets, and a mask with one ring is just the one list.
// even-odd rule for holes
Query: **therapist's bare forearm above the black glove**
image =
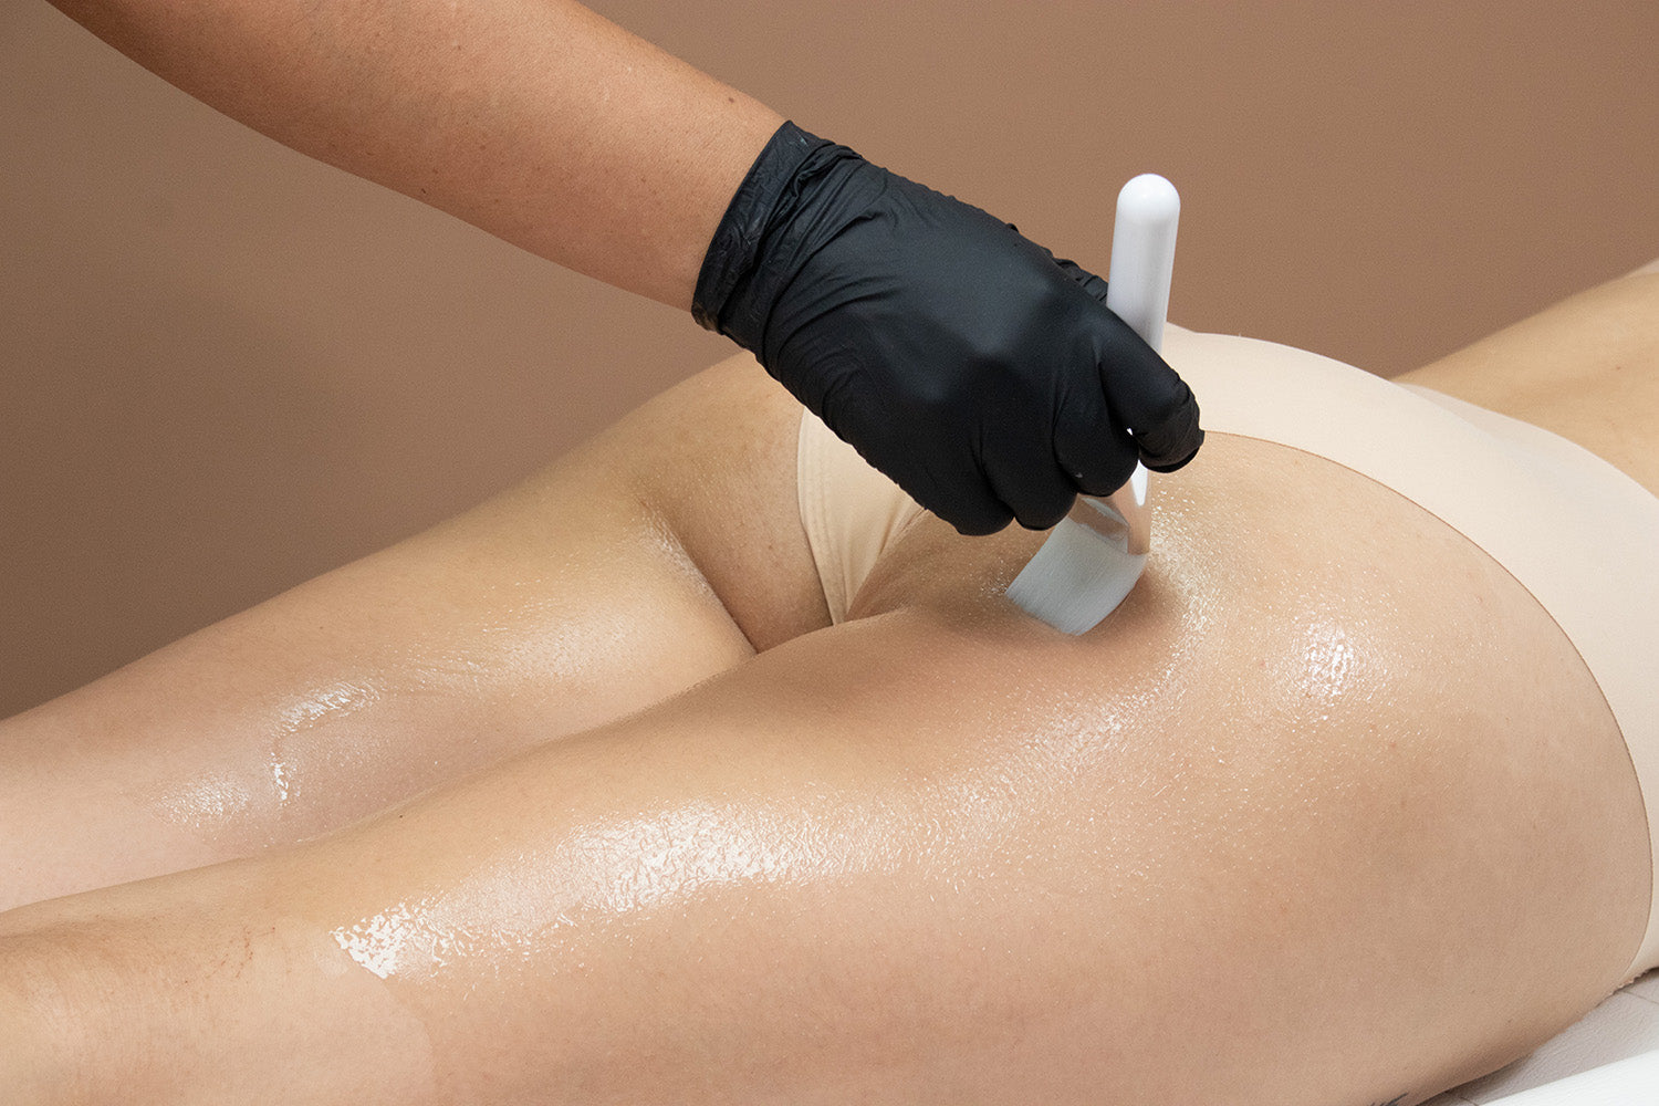
{"label": "therapist's bare forearm above the black glove", "polygon": [[781,118],[566,0],[53,0],[294,149],[688,308]]}

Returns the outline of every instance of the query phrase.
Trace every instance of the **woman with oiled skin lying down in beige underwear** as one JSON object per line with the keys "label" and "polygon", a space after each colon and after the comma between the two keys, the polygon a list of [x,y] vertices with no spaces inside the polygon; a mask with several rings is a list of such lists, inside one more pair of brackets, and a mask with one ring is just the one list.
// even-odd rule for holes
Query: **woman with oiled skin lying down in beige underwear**
{"label": "woman with oiled skin lying down in beige underwear", "polygon": [[1659,962],[1659,274],[1166,355],[1080,638],[745,355],[5,723],[7,1101],[1420,1103]]}

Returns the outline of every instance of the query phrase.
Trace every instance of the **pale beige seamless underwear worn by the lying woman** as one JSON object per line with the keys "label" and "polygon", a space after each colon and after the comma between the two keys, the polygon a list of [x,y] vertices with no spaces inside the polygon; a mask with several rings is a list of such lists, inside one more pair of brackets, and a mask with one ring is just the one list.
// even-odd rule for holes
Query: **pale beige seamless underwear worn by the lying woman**
{"label": "pale beige seamless underwear worn by the lying woman", "polygon": [[[1171,327],[1163,355],[1198,395],[1204,429],[1354,469],[1447,522],[1533,594],[1613,710],[1659,862],[1659,497],[1550,431],[1317,353]],[[921,507],[811,415],[801,418],[796,476],[839,622]],[[1627,975],[1659,965],[1656,905],[1659,895]]]}

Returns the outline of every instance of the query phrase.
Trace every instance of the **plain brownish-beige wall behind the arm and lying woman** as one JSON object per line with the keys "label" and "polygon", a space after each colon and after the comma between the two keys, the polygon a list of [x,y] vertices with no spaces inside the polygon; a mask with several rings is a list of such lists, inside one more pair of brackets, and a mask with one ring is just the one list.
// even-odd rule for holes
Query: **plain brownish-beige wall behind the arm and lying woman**
{"label": "plain brownish-beige wall behind the arm and lying woman", "polygon": [[[1659,5],[606,0],[1171,315],[1394,373],[1659,255]],[[410,534],[725,345],[0,5],[0,715]]]}

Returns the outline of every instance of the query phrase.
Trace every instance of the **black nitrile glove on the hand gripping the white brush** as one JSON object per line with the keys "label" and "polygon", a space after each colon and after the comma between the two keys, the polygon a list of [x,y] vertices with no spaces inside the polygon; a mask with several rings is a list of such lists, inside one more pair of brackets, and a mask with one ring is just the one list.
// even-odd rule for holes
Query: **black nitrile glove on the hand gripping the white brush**
{"label": "black nitrile glove on the hand gripping the white brush", "polygon": [[1047,529],[1168,473],[1198,403],[1107,282],[977,207],[785,123],[715,232],[692,313],[752,350],[962,534]]}

